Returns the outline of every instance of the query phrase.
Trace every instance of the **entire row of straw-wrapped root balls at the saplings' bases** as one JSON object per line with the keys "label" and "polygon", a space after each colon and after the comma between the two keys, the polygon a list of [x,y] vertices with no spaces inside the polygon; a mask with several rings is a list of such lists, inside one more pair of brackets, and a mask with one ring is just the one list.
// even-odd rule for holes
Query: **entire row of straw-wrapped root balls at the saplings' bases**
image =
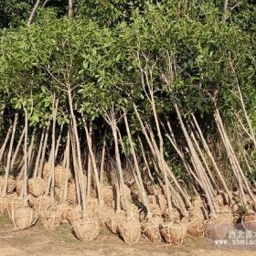
{"label": "entire row of straw-wrapped root balls at the saplings' bases", "polygon": [[[150,212],[144,211],[140,198],[137,203],[140,208],[133,203],[132,192],[126,185],[124,189],[120,189],[118,184],[101,186],[101,203],[92,189],[91,197],[81,202],[81,198],[77,197],[80,191],[75,178],[61,165],[55,167],[54,191],[49,189],[50,169],[50,164],[46,163],[42,177],[28,179],[27,204],[24,204],[23,198],[23,179],[20,176],[16,180],[8,177],[8,194],[0,197],[0,212],[9,214],[15,229],[27,229],[40,219],[46,229],[57,229],[61,223],[69,222],[76,237],[84,241],[96,239],[101,228],[107,227],[128,244],[142,238],[180,244],[186,236],[205,234],[213,240],[224,239],[229,230],[235,229],[234,224],[238,220],[220,196],[217,197],[221,208],[218,219],[206,219],[206,207],[199,196],[193,200],[188,216],[181,218],[176,208],[172,208],[173,214],[169,216],[164,191],[160,188],[154,189],[154,195],[147,196]],[[87,178],[83,178],[86,189]],[[4,176],[0,176],[0,186],[3,187],[3,184]],[[255,215],[245,217],[243,227],[256,231]]]}

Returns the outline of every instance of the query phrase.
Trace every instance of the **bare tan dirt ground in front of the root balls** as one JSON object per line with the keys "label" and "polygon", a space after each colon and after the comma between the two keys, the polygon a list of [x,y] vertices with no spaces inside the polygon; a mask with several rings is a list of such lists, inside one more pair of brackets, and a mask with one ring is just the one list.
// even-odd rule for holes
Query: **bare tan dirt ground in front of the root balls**
{"label": "bare tan dirt ground in front of the root balls", "polygon": [[22,231],[15,231],[7,216],[0,218],[0,256],[147,256],[147,255],[197,255],[197,256],[256,256],[254,248],[223,248],[207,239],[186,239],[181,246],[165,243],[152,244],[146,240],[129,246],[123,240],[103,230],[97,240],[84,243],[77,240],[69,224],[56,231],[43,229],[40,223]]}

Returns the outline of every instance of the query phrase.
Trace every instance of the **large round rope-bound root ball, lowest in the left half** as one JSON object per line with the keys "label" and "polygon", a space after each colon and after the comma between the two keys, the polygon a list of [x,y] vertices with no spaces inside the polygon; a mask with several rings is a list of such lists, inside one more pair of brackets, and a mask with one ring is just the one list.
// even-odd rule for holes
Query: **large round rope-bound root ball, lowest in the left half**
{"label": "large round rope-bound root ball, lowest in the left half", "polygon": [[76,237],[82,241],[95,240],[100,231],[98,221],[89,216],[74,221],[72,227]]}

